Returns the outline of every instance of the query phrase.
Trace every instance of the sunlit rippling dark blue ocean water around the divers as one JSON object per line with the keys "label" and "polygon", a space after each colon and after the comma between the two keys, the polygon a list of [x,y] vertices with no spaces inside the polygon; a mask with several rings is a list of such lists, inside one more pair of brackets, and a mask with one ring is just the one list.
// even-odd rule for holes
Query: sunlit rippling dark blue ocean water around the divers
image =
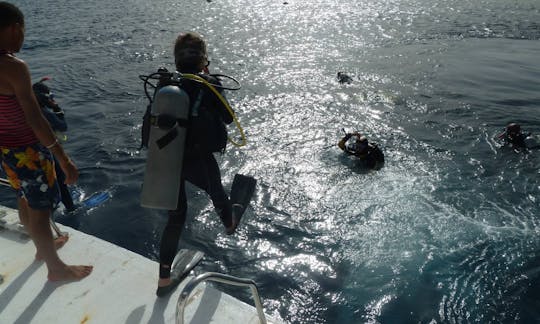
{"label": "sunlit rippling dark blue ocean water around the divers", "polygon": [[[180,246],[206,253],[196,273],[254,279],[287,323],[540,321],[540,151],[493,139],[509,122],[540,134],[538,1],[14,3],[19,57],[66,110],[77,188],[112,193],[59,222],[157,259],[166,215],[139,206],[138,76],[173,69],[194,30],[211,71],[243,86],[227,96],[248,144],[219,157],[223,181],[259,184],[232,237],[190,188]],[[342,128],[379,143],[384,168],[344,157]]]}

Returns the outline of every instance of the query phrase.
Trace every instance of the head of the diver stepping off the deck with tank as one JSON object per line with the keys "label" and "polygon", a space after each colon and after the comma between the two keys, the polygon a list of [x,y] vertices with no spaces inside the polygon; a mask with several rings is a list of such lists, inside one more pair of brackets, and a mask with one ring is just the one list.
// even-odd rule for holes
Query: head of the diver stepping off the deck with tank
{"label": "head of the diver stepping off the deck with tank", "polygon": [[184,73],[198,73],[208,66],[206,42],[195,32],[182,33],[174,44],[176,69]]}

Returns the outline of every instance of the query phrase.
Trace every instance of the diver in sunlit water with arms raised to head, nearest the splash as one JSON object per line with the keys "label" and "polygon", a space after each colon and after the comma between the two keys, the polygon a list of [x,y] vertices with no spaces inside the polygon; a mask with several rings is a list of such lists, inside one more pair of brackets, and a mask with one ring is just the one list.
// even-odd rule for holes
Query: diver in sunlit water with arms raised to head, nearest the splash
{"label": "diver in sunlit water with arms raised to head, nearest the splash", "polygon": [[375,143],[359,132],[346,133],[339,141],[338,146],[345,153],[354,155],[368,168],[378,170],[384,165],[384,154]]}

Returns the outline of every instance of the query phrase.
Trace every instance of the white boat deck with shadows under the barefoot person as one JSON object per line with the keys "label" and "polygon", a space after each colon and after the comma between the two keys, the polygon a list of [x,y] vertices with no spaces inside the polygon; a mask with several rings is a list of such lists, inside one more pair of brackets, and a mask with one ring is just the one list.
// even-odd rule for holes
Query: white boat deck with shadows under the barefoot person
{"label": "white boat deck with shadows under the barefoot person", "polygon": [[[58,225],[70,235],[60,257],[94,270],[78,282],[50,282],[45,264],[34,259],[32,241],[17,231],[17,211],[0,206],[0,223],[0,323],[175,323],[178,297],[191,276],[170,296],[157,298],[157,262]],[[209,285],[190,296],[185,323],[259,323],[253,306]]]}

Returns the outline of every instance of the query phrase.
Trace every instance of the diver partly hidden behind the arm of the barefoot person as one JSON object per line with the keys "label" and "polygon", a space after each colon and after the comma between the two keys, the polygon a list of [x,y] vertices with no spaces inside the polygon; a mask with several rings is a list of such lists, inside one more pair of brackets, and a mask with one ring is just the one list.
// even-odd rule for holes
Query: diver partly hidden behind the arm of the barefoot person
{"label": "diver partly hidden behind the arm of the barefoot person", "polygon": [[[32,90],[34,90],[34,95],[36,96],[39,106],[41,107],[43,116],[45,116],[57,137],[61,137],[61,133],[67,131],[67,123],[64,116],[64,111],[54,100],[54,95],[51,92],[51,89],[44,83],[47,80],[50,80],[50,78],[44,77],[39,82],[34,83],[32,85]],[[69,191],[68,186],[64,183],[66,175],[60,168],[60,163],[58,163],[58,161],[55,162],[54,170],[56,171],[56,176],[58,178],[58,186],[60,187],[62,203],[64,204],[64,207],[66,207],[67,211],[72,211],[75,209],[75,204],[73,203],[73,198],[71,197],[71,192]]]}

